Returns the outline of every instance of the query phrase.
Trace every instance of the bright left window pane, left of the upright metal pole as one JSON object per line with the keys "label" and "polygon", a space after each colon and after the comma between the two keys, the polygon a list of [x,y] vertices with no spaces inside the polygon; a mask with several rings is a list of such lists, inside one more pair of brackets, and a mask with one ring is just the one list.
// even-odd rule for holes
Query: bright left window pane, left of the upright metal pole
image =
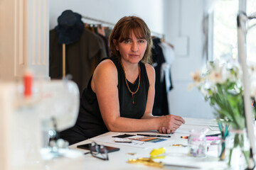
{"label": "bright left window pane, left of the upright metal pole", "polygon": [[219,1],[213,13],[213,59],[238,57],[238,0]]}

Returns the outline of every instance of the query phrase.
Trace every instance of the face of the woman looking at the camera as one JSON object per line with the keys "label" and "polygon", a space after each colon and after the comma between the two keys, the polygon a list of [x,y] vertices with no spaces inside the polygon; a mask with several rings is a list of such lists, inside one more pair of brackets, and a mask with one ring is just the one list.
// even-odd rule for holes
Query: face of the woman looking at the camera
{"label": "face of the woman looking at the camera", "polygon": [[132,37],[114,44],[116,44],[116,50],[119,50],[123,62],[136,64],[142,60],[147,42],[144,38],[137,38],[132,32]]}

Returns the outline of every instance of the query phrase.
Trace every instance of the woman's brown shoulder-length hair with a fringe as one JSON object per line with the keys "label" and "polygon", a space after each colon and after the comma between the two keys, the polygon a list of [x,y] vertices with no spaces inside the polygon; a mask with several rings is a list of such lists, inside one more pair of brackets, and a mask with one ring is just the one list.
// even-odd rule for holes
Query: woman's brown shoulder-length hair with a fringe
{"label": "woman's brown shoulder-length hair with a fringe", "polygon": [[120,60],[120,53],[116,50],[113,40],[117,40],[117,43],[122,42],[126,38],[129,38],[132,32],[137,38],[145,38],[147,45],[142,62],[151,63],[151,31],[142,18],[137,16],[124,16],[114,26],[109,39],[111,55]]}

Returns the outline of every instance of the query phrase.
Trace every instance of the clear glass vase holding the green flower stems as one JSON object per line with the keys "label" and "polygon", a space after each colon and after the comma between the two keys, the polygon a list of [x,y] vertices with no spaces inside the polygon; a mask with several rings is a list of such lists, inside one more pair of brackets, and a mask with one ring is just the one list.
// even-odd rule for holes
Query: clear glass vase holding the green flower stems
{"label": "clear glass vase holding the green flower stems", "polygon": [[231,128],[225,138],[225,162],[230,169],[245,169],[250,156],[250,142],[246,130]]}

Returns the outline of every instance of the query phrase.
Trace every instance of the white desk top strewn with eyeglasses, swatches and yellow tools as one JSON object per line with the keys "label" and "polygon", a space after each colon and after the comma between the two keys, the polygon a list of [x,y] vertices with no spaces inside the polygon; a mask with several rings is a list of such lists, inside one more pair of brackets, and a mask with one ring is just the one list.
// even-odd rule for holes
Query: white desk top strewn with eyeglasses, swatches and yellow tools
{"label": "white desk top strewn with eyeglasses, swatches and yellow tools", "polygon": [[[188,123],[188,121],[190,121],[190,119],[186,120],[186,123]],[[203,125],[193,125],[193,126],[195,128],[203,128]],[[166,147],[166,153],[168,154],[168,156],[165,159],[159,159],[159,160],[155,159],[155,161],[157,162],[162,161],[166,164],[199,166],[201,167],[201,169],[225,169],[226,168],[225,162],[218,162],[217,145],[210,145],[208,155],[205,158],[189,157],[188,147],[170,146],[173,144],[183,144],[183,145],[188,144],[188,140],[181,139],[181,136],[188,135],[188,133],[185,132],[185,129],[186,127],[183,126],[184,133],[174,133],[174,134],[171,134],[170,138],[165,138],[166,140],[168,140],[168,142],[163,142],[164,143],[163,145],[161,144],[161,142],[157,143],[156,147],[154,148]],[[137,132],[122,132],[122,133],[120,132],[120,134],[124,134],[124,133],[137,134]],[[142,133],[142,132],[139,132],[139,133]],[[155,132],[153,133],[155,134]],[[216,132],[210,131],[209,133],[216,133]],[[117,135],[117,132],[107,132],[103,135],[97,136],[96,139],[99,137],[106,137],[108,135],[114,136],[114,135]],[[70,149],[78,149],[76,147],[77,145],[82,145],[90,142],[92,142],[92,140],[85,140],[85,141],[79,142],[75,145],[71,145]],[[142,149],[137,147],[129,147],[124,145],[114,144],[111,142],[99,142],[99,141],[96,141],[96,142],[98,144],[108,145],[112,147],[119,147],[120,150],[118,152],[109,153],[109,159],[110,159],[109,161],[103,161],[101,159],[97,159],[95,157],[92,157],[90,154],[84,155],[83,163],[85,164],[86,169],[106,169],[106,170],[107,169],[160,169],[156,167],[145,166],[143,164],[127,163],[128,159],[131,159],[131,158],[137,159],[139,157],[149,157],[149,153],[154,148]],[[82,152],[88,152],[85,149],[78,149],[78,150]],[[136,154],[130,155],[127,153],[136,153]],[[178,168],[173,168],[169,166],[168,168],[166,167],[166,169],[178,169]]]}

